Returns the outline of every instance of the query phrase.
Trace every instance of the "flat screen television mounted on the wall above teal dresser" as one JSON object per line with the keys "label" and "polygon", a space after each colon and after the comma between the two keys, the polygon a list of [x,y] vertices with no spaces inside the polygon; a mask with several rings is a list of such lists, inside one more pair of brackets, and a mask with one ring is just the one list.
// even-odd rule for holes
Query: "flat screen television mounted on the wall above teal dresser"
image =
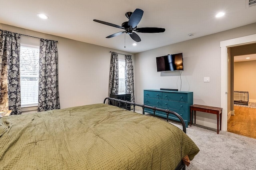
{"label": "flat screen television mounted on the wall above teal dresser", "polygon": [[156,57],[157,71],[182,71],[183,70],[183,55],[168,54],[161,57]]}

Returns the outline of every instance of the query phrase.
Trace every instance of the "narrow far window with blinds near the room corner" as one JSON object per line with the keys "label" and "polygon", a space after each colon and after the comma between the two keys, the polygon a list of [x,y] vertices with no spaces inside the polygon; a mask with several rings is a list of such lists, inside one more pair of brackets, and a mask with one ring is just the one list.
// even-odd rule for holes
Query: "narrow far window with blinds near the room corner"
{"label": "narrow far window with blinds near the room corner", "polygon": [[125,61],[118,59],[118,94],[125,94]]}

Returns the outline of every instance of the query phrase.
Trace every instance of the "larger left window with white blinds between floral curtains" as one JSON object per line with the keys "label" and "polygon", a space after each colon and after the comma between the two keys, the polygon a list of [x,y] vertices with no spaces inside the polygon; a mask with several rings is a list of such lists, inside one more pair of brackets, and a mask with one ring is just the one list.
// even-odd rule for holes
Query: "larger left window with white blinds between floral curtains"
{"label": "larger left window with white blinds between floral curtains", "polygon": [[20,47],[21,107],[38,105],[39,47]]}

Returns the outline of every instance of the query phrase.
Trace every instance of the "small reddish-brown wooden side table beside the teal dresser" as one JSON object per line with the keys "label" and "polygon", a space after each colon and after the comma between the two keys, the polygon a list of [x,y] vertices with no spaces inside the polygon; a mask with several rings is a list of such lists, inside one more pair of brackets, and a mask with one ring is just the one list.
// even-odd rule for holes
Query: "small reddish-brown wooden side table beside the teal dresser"
{"label": "small reddish-brown wooden side table beside the teal dresser", "polygon": [[217,134],[219,134],[219,118],[220,118],[220,130],[221,130],[222,108],[204,106],[204,105],[191,105],[190,106],[190,126],[192,125],[193,111],[195,113],[195,124],[196,124],[196,111],[212,113],[217,115]]}

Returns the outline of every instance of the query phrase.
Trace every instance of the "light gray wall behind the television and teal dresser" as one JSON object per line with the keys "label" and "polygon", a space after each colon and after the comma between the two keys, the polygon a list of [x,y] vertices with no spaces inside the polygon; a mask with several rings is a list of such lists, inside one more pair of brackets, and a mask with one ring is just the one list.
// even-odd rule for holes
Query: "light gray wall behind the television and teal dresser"
{"label": "light gray wall behind the television and teal dresser", "polygon": [[[194,92],[194,104],[220,107],[221,51],[220,42],[256,34],[256,23],[225,32],[167,45],[135,55],[135,100],[143,103],[144,89],[170,88],[180,90],[179,72],[158,73],[156,57],[183,53],[182,91]],[[210,77],[204,83],[204,77]],[[197,124],[217,127],[216,115],[197,113]]]}

